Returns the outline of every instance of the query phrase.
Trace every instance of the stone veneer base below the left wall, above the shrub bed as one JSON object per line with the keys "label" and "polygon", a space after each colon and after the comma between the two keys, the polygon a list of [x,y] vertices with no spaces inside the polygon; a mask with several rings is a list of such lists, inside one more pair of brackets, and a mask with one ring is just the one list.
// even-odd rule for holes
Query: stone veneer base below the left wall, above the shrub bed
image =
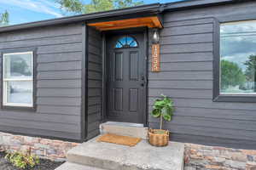
{"label": "stone veneer base below the left wall, above the shrub bed", "polygon": [[34,155],[53,161],[66,161],[67,151],[77,145],[73,142],[0,132],[0,150],[31,150]]}

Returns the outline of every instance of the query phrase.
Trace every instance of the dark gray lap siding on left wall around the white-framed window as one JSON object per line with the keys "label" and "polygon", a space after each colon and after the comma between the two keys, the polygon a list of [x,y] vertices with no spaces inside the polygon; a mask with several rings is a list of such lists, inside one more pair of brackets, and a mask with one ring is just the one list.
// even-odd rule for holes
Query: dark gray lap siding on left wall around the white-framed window
{"label": "dark gray lap siding on left wall around the white-framed window", "polygon": [[17,48],[37,48],[37,111],[0,111],[0,131],[80,139],[81,24],[0,34],[0,52]]}

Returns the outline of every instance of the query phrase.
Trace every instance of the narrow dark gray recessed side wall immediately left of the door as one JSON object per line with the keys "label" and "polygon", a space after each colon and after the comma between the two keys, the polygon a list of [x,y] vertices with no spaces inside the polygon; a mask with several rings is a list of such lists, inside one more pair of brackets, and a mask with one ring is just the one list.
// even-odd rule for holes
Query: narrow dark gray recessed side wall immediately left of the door
{"label": "narrow dark gray recessed side wall immediately left of the door", "polygon": [[102,120],[102,35],[88,27],[88,135],[100,133]]}

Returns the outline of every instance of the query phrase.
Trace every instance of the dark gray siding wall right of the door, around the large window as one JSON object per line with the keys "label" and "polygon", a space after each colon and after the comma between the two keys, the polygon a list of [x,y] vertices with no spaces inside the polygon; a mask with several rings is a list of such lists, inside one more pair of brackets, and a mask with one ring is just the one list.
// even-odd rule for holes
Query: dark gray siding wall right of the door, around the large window
{"label": "dark gray siding wall right of the door, around the large window", "polygon": [[[255,103],[212,102],[214,20],[245,19],[255,8],[235,3],[164,14],[161,71],[148,73],[148,109],[160,94],[172,97],[175,116],[165,122],[172,140],[256,149]],[[149,116],[150,127],[156,122]]]}

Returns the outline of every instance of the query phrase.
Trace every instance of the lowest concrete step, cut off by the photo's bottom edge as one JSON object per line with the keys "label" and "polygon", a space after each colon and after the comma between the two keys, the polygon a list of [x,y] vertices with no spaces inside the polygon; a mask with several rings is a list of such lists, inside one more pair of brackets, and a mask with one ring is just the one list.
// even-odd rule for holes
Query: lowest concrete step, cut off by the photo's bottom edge
{"label": "lowest concrete step, cut off by the photo's bottom edge", "polygon": [[106,170],[106,169],[79,165],[77,163],[65,162],[60,167],[57,167],[55,170]]}

